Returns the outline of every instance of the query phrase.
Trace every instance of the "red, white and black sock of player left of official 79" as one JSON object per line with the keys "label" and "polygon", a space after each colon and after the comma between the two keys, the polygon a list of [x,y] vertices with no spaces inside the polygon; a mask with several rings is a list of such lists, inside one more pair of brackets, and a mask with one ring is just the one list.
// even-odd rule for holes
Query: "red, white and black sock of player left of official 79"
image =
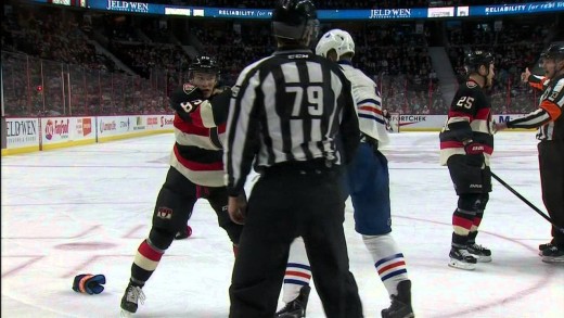
{"label": "red, white and black sock of player left of official 79", "polygon": [[144,240],[139,245],[131,266],[131,282],[138,285],[144,284],[155,271],[163,254],[165,254],[165,251],[153,246],[149,239]]}

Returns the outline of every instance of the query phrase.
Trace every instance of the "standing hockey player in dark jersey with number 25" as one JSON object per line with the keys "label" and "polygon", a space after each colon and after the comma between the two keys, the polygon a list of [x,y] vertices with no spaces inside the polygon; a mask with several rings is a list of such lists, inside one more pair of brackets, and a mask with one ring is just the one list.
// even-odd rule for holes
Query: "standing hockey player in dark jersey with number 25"
{"label": "standing hockey player in dark jersey with number 25", "polygon": [[493,131],[485,89],[491,87],[495,76],[493,58],[474,51],[464,59],[464,66],[469,76],[454,94],[439,135],[440,164],[448,166],[459,196],[452,215],[449,266],[474,269],[477,262],[491,262],[491,251],[475,240],[491,192]]}

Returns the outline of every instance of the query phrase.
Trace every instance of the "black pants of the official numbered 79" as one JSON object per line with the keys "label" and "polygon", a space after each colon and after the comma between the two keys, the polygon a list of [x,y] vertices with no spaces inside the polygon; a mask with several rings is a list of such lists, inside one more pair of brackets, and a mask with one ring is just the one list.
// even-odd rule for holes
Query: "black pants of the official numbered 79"
{"label": "black pants of the official numbered 79", "polygon": [[342,178],[328,168],[268,168],[248,200],[229,289],[230,318],[274,317],[290,244],[302,236],[326,317],[362,317],[343,230]]}

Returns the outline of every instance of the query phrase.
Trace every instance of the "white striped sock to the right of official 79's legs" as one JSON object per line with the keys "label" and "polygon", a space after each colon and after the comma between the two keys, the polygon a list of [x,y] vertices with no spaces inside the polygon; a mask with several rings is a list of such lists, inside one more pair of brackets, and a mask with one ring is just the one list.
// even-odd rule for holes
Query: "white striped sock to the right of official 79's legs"
{"label": "white striped sock to the right of official 79's legs", "polygon": [[403,254],[399,251],[390,233],[384,236],[362,236],[380,279],[389,295],[397,295],[397,285],[408,279],[408,270]]}

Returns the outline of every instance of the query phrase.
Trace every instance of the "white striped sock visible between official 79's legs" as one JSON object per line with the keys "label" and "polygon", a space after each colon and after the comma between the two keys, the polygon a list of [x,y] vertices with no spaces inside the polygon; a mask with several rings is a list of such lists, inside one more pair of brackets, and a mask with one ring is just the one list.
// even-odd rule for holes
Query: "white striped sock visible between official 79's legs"
{"label": "white striped sock visible between official 79's legs", "polygon": [[304,239],[296,238],[290,246],[282,301],[290,303],[297,298],[302,287],[309,285],[311,281],[311,268],[307,258]]}

